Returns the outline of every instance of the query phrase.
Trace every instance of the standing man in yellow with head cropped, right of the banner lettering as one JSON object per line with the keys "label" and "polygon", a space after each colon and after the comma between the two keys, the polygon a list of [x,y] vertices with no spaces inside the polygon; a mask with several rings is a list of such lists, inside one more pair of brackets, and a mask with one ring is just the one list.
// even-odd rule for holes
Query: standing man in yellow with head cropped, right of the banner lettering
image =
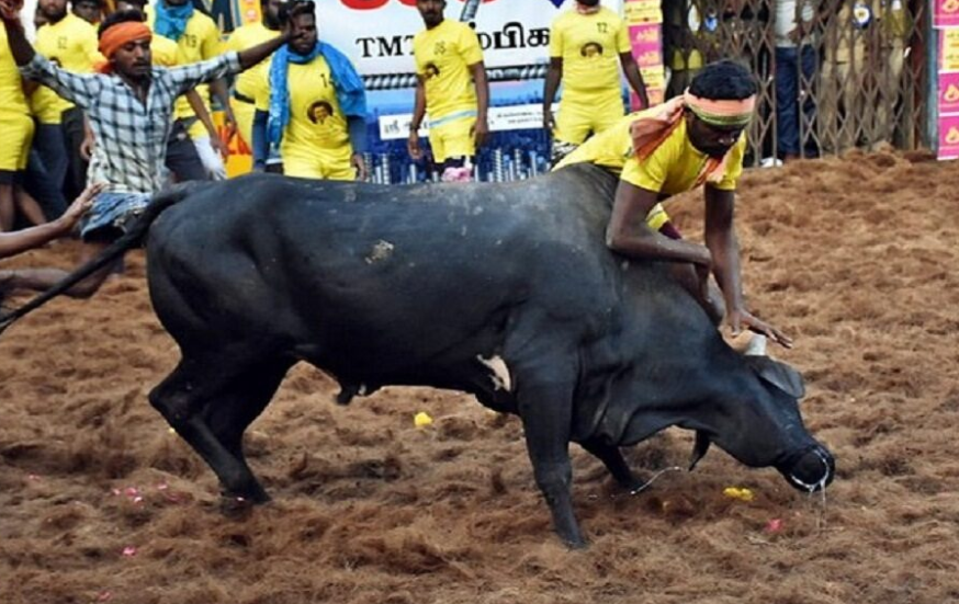
{"label": "standing man in yellow with head cropped, right of the banner lettering", "polygon": [[[623,116],[620,66],[643,106],[650,106],[625,22],[616,12],[601,7],[599,0],[575,0],[574,10],[553,21],[543,127],[553,135],[554,163]],[[553,99],[561,81],[563,100],[554,118]]]}

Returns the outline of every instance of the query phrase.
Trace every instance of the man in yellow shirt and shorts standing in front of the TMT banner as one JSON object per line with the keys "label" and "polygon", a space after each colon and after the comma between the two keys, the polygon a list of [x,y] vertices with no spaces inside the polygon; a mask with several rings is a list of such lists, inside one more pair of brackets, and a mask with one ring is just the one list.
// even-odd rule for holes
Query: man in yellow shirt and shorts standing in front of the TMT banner
{"label": "man in yellow shirt and shorts standing in front of the TMT banner", "polygon": [[[416,101],[407,148],[419,159],[419,127],[429,115],[435,168],[444,180],[472,166],[489,127],[489,84],[476,33],[465,23],[443,18],[445,0],[416,0],[426,30],[413,38]],[[461,180],[461,179],[460,179]]]}

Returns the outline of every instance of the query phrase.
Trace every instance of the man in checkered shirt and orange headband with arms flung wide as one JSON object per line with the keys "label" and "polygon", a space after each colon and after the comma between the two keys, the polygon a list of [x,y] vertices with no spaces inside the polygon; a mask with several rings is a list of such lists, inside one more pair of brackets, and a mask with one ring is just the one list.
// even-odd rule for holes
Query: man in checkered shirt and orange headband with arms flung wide
{"label": "man in checkered shirt and orange headband with arms flung wide", "polygon": [[[176,68],[154,67],[153,34],[138,11],[113,13],[100,25],[100,52],[108,62],[99,73],[72,73],[38,55],[20,22],[21,0],[0,0],[0,19],[11,53],[24,78],[49,87],[87,112],[97,137],[89,180],[104,183],[80,235],[87,243],[83,261],[125,231],[132,218],[162,186],[167,138],[173,124],[173,102],[200,83],[239,73],[290,42],[289,32],[240,53]],[[75,286],[69,295],[89,297],[110,275],[112,266]],[[0,286],[44,290],[66,276],[53,269],[0,272]]]}

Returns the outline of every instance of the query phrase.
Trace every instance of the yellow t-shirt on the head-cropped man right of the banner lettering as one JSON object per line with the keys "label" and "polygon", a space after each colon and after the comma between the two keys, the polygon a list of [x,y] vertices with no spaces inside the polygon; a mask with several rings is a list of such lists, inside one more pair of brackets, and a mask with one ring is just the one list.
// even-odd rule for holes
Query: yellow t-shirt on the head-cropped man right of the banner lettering
{"label": "yellow t-shirt on the head-cropped man right of the banner lettering", "polygon": [[563,59],[563,101],[589,103],[620,91],[619,56],[630,52],[625,22],[602,7],[594,14],[567,11],[553,21],[550,57]]}

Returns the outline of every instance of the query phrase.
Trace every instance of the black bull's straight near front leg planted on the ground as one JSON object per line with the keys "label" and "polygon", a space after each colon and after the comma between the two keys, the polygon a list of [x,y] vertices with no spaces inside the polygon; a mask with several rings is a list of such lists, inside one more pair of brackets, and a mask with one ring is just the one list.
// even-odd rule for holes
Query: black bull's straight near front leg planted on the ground
{"label": "black bull's straight near front leg planted on the ground", "polygon": [[586,547],[579,523],[573,513],[571,492],[573,386],[527,384],[518,392],[518,398],[533,476],[553,515],[553,529],[569,547]]}

